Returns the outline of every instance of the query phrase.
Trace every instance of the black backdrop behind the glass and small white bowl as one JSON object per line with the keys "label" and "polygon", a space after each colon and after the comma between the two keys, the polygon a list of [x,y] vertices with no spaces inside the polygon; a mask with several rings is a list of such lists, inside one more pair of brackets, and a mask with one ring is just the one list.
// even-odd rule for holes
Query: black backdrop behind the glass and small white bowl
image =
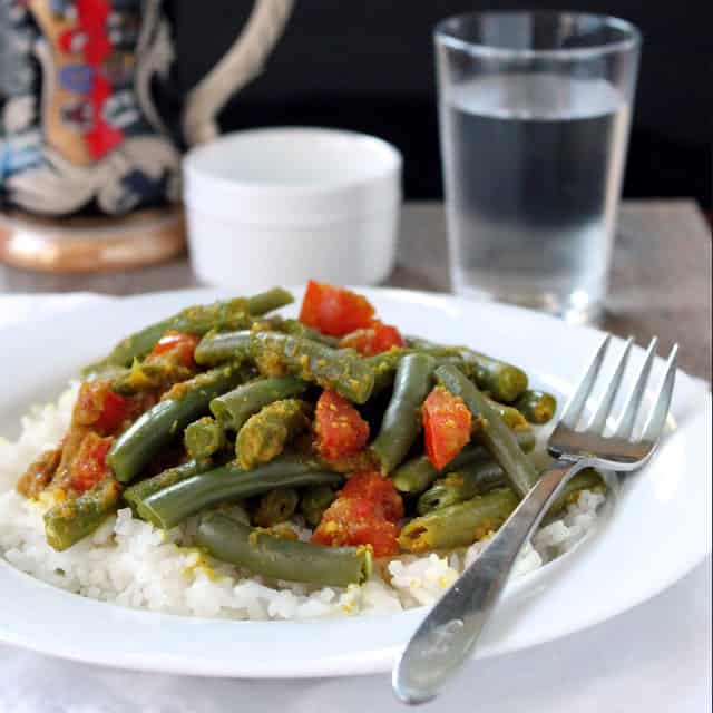
{"label": "black backdrop behind the glass and small white bowl", "polygon": [[[229,47],[246,0],[174,0],[180,94]],[[710,0],[504,2],[297,0],[263,74],[221,115],[223,130],[318,125],[374,134],[404,155],[408,198],[442,195],[431,32],[476,9],[548,7],[616,14],[644,36],[627,197],[693,196],[711,208],[713,13]]]}

